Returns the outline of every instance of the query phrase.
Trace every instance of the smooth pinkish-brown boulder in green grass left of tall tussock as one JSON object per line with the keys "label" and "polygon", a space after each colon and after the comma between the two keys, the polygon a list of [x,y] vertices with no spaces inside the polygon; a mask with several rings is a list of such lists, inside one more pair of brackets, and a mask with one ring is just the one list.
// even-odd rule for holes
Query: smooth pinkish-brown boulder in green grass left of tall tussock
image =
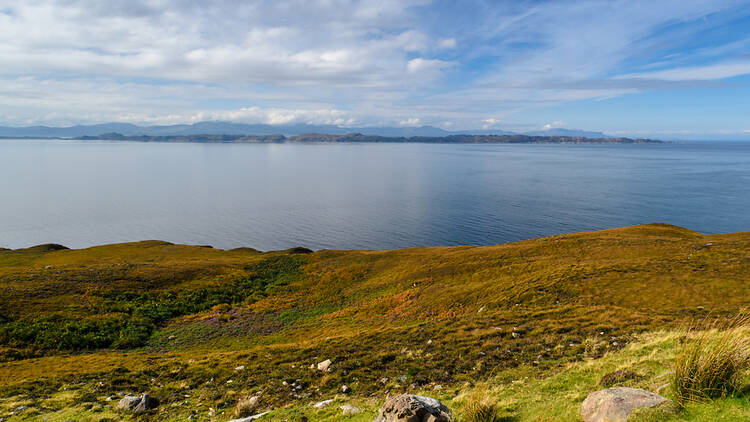
{"label": "smooth pinkish-brown boulder in green grass left of tall tussock", "polygon": [[633,411],[671,403],[639,388],[614,387],[595,391],[581,405],[584,422],[625,422]]}

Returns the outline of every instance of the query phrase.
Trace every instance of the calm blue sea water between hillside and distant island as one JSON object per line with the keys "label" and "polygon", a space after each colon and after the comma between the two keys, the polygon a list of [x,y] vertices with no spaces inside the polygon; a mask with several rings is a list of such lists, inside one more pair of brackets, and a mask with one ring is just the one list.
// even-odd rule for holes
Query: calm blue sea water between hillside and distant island
{"label": "calm blue sea water between hillside and distant island", "polygon": [[389,249],[651,222],[750,230],[750,144],[0,140],[0,247]]}

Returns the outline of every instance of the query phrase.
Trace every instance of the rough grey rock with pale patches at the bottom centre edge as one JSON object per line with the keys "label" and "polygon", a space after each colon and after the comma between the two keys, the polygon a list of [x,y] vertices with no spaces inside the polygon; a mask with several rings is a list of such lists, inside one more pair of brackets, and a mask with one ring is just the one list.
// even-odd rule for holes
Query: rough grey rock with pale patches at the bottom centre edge
{"label": "rough grey rock with pale patches at the bottom centre edge", "polygon": [[453,414],[431,397],[402,394],[385,401],[373,422],[453,422]]}

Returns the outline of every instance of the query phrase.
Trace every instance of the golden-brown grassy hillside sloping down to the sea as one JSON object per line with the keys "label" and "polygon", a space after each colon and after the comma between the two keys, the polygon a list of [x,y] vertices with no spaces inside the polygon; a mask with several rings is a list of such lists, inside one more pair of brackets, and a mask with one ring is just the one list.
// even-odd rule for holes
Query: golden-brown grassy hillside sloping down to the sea
{"label": "golden-brown grassy hillside sloping down to the sea", "polygon": [[[148,391],[161,405],[144,419],[224,421],[262,391],[274,420],[371,420],[389,392],[428,392],[460,413],[481,391],[507,420],[575,420],[606,371],[633,366],[628,382],[652,386],[675,328],[750,302],[750,233],[655,224],[307,252],[158,241],[0,251],[0,418],[119,420],[118,393]],[[310,369],[325,359],[331,372]],[[365,413],[310,406],[334,397]],[[747,407],[727,400],[716,406]],[[680,417],[705,409],[692,411]]]}

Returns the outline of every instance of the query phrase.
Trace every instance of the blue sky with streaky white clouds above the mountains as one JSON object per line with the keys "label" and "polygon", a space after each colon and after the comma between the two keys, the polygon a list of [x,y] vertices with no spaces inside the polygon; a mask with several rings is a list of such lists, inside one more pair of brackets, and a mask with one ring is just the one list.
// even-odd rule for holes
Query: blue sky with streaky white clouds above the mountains
{"label": "blue sky with streaky white clouds above the mountains", "polygon": [[750,1],[0,0],[0,125],[750,137]]}

